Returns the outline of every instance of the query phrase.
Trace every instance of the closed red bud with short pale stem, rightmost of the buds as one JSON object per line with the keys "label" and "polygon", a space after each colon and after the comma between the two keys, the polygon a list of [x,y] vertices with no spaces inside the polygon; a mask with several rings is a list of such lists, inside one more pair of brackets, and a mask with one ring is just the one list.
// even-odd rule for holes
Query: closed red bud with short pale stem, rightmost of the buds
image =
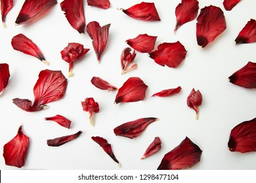
{"label": "closed red bud with short pale stem, rightmost of the buds", "polygon": [[196,119],[198,120],[198,106],[202,104],[203,97],[200,91],[195,91],[194,88],[188,95],[188,98],[186,99],[186,104],[188,107],[193,108],[196,111]]}

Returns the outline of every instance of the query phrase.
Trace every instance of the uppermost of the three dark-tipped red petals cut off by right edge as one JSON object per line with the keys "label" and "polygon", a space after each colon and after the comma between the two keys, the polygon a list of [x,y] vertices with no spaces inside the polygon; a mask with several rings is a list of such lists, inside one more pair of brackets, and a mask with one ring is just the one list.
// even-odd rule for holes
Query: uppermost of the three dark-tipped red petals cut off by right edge
{"label": "uppermost of the three dark-tipped red petals cut off by right edge", "polygon": [[236,37],[236,44],[256,42],[256,21],[251,19]]}

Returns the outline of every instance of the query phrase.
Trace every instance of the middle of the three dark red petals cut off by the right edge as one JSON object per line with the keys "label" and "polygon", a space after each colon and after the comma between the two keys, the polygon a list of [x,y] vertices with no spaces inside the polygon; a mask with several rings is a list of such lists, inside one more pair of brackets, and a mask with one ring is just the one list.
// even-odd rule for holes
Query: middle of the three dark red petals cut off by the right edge
{"label": "middle of the three dark red petals cut off by the right edge", "polygon": [[256,88],[256,63],[248,61],[248,63],[228,77],[232,84],[242,86],[244,88]]}

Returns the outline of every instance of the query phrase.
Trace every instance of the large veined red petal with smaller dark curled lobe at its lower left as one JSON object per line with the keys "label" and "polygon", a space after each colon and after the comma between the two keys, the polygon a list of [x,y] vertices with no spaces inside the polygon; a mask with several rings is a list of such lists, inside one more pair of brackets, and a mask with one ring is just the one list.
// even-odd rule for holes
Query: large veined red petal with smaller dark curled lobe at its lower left
{"label": "large veined red petal with smaller dark curled lobe at its lower left", "polygon": [[67,79],[61,71],[44,70],[39,73],[39,78],[33,88],[35,101],[28,99],[13,99],[13,103],[28,112],[45,108],[47,103],[61,99],[68,85]]}

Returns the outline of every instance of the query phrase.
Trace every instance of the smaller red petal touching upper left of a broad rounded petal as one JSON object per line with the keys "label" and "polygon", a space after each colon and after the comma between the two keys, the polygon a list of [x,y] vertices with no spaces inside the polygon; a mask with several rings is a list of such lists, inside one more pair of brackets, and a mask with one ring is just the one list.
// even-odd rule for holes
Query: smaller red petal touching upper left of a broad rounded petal
{"label": "smaller red petal touching upper left of a broad rounded petal", "polygon": [[151,36],[147,34],[138,35],[134,39],[128,39],[126,42],[131,46],[133,49],[137,50],[138,52],[142,53],[150,53],[154,50],[155,42],[157,36]]}

